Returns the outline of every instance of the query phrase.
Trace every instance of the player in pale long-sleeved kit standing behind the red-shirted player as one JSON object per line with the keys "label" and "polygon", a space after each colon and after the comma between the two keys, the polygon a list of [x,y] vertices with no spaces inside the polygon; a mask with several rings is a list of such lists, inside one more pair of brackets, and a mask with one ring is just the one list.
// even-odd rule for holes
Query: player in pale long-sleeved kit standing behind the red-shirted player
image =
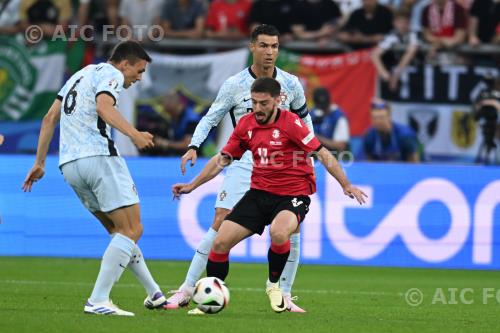
{"label": "player in pale long-sleeved kit standing behind the red-shirted player", "polygon": [[[197,151],[205,141],[208,133],[216,127],[222,118],[229,113],[233,122],[233,127],[239,119],[249,112],[252,112],[252,101],[250,97],[250,87],[258,77],[275,78],[282,87],[280,94],[280,108],[296,113],[304,120],[306,125],[313,131],[311,117],[307,111],[304,89],[299,79],[281,69],[275,67],[279,49],[279,32],[271,25],[257,26],[251,34],[250,51],[253,56],[253,63],[240,73],[227,79],[219,90],[217,98],[208,110],[208,113],[200,120],[193,138],[189,145],[189,150],[182,157],[181,170],[185,173],[185,165],[191,161],[194,165],[197,158]],[[217,231],[225,219],[226,215],[250,189],[250,177],[252,174],[252,155],[246,152],[239,161],[233,162],[226,170],[224,183],[217,196],[215,204],[215,216],[211,228],[203,237],[196,253],[191,261],[186,280],[179,290],[167,300],[167,309],[177,309],[189,304],[196,281],[205,270],[208,253],[217,235]],[[300,234],[297,230],[291,238],[291,249],[288,262],[280,278],[280,286],[291,312],[305,312],[293,303],[291,288],[297,272],[300,257]],[[199,311],[193,309],[192,314]]]}

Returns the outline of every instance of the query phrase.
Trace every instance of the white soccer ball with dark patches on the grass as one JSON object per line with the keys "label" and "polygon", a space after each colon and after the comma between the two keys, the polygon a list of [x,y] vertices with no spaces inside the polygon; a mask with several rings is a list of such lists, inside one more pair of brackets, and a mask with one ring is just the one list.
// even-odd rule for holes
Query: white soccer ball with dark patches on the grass
{"label": "white soccer ball with dark patches on the grass", "polygon": [[216,277],[200,279],[194,287],[193,302],[205,313],[218,313],[229,303],[229,289]]}

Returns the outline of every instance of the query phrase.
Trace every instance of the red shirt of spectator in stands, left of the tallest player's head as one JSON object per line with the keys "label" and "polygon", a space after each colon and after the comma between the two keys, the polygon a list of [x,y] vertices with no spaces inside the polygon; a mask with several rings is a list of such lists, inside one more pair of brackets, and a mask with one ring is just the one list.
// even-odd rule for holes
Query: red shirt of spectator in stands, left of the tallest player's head
{"label": "red shirt of spectator in stands, left of the tallest player's head", "polygon": [[250,0],[238,0],[235,3],[214,0],[208,8],[206,26],[214,31],[230,28],[246,34],[251,7]]}

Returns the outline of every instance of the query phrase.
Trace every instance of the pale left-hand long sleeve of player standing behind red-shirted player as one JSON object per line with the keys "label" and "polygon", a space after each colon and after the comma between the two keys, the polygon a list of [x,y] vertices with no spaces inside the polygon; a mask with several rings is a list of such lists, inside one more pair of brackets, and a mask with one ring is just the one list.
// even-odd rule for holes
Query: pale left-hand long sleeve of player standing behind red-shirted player
{"label": "pale left-hand long sleeve of player standing behind red-shirted player", "polygon": [[207,114],[201,118],[198,126],[196,126],[193,138],[189,144],[190,146],[200,147],[210,133],[210,130],[216,127],[226,113],[234,107],[234,98],[232,95],[234,91],[231,87],[232,84],[228,80],[222,84],[212,106],[210,106]]}

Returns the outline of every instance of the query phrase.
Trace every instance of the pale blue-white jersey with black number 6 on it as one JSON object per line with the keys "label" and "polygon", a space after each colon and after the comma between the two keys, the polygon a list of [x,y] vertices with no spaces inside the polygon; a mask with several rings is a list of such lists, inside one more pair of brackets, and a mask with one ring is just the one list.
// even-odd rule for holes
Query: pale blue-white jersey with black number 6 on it
{"label": "pale blue-white jersey with black number 6 on it", "polygon": [[96,98],[108,94],[115,104],[123,88],[123,74],[113,65],[89,65],[69,78],[61,100],[59,165],[90,156],[118,156],[111,127],[97,114]]}

